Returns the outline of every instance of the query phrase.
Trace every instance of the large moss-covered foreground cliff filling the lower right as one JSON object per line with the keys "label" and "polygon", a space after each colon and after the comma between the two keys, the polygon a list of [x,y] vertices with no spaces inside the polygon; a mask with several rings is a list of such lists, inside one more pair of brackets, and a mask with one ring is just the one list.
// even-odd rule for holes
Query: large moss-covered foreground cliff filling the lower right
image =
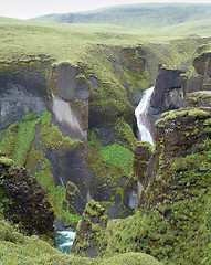
{"label": "large moss-covered foreground cliff filling the lower right", "polygon": [[[187,108],[157,121],[139,210],[125,220],[109,220],[97,237],[95,230],[88,231],[101,255],[145,252],[162,264],[210,263],[210,118],[209,107]],[[141,180],[145,149],[137,148],[134,165]],[[89,241],[83,239],[88,253]]]}

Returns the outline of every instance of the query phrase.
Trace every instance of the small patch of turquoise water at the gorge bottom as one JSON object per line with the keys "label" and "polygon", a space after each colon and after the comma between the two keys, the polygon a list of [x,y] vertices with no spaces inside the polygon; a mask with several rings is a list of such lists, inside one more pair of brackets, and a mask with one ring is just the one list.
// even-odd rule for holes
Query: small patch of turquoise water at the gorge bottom
{"label": "small patch of turquoise water at the gorge bottom", "polygon": [[70,253],[75,239],[75,232],[73,231],[56,231],[55,232],[55,243],[57,250],[63,253]]}

